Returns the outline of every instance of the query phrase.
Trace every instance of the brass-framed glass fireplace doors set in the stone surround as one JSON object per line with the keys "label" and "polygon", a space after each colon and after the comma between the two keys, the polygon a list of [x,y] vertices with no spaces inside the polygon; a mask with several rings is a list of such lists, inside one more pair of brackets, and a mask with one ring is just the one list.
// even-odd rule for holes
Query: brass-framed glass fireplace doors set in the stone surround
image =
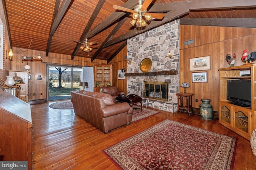
{"label": "brass-framed glass fireplace doors set in the stone surround", "polygon": [[144,97],[168,101],[168,82],[144,82]]}

